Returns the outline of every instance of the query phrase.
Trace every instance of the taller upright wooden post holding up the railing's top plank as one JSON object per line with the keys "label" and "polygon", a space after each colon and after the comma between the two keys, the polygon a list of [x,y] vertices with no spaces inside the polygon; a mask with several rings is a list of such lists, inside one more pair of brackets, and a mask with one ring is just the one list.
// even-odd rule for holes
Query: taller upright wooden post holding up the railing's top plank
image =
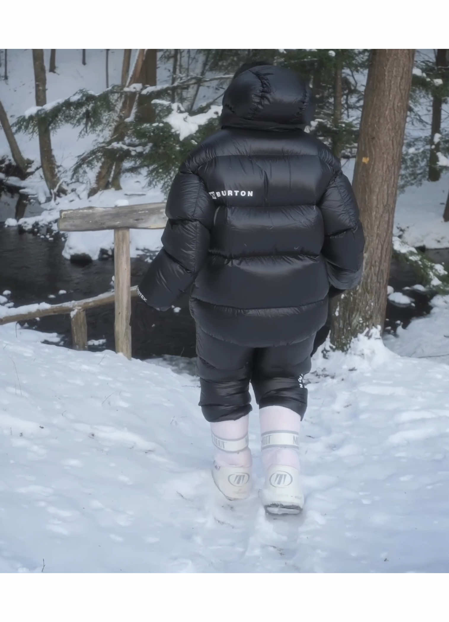
{"label": "taller upright wooden post holding up the railing's top plank", "polygon": [[131,358],[130,230],[114,231],[115,351]]}

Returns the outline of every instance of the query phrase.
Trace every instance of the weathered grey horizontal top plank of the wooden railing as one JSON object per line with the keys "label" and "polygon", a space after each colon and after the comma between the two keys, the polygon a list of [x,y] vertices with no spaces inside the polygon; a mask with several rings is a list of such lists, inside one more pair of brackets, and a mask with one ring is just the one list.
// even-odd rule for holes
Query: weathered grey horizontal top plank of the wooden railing
{"label": "weathered grey horizontal top plank of the wooden railing", "polygon": [[61,210],[60,231],[100,231],[104,229],[163,229],[167,218],[165,203],[143,203],[123,207],[83,207]]}

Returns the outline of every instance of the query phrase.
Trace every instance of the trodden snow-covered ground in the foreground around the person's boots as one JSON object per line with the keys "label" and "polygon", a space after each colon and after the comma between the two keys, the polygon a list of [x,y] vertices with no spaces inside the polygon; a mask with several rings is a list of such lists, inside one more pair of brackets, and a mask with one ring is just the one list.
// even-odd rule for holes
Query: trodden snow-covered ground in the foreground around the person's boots
{"label": "trodden snow-covered ground in the foreground around the person's boots", "polygon": [[[269,517],[215,490],[195,376],[39,338],[0,330],[2,572],[449,571],[446,364],[316,356],[305,509]],[[257,407],[250,448],[258,488]]]}

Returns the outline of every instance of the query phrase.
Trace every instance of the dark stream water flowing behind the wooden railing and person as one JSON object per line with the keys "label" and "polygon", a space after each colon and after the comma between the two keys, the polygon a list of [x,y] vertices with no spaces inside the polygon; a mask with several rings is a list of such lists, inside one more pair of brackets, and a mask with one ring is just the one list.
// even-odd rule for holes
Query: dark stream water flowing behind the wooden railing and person
{"label": "dark stream water flowing behind the wooden railing and person", "polygon": [[[111,290],[114,272],[113,260],[99,259],[88,264],[75,264],[62,257],[64,236],[56,233],[53,239],[43,239],[39,231],[21,233],[16,227],[4,227],[7,218],[38,215],[39,204],[26,197],[7,192],[0,186],[0,295],[11,291],[15,307],[36,302],[65,302],[80,300]],[[45,233],[45,231],[44,231]],[[431,259],[449,267],[449,249],[428,251]],[[154,254],[153,254],[154,256]],[[148,256],[147,256],[148,257]],[[151,254],[149,254],[151,258]],[[148,263],[142,256],[131,260],[131,284],[138,284]],[[414,272],[395,260],[390,269],[390,285],[400,291],[416,283]],[[59,294],[64,290],[64,294]],[[413,317],[430,312],[427,294],[405,292],[414,297],[415,307],[398,307],[387,304],[385,329],[395,330],[397,323],[406,327]],[[54,296],[49,298],[49,296]],[[131,332],[133,357],[148,359],[154,356],[195,356],[195,326],[189,313],[187,296],[177,302],[179,312],[158,312],[133,299]],[[113,305],[87,311],[88,340],[106,340],[92,350],[114,350]],[[42,332],[58,333],[61,345],[71,346],[72,336],[68,315],[52,315],[31,320],[29,326]],[[321,340],[326,337],[325,331]]]}

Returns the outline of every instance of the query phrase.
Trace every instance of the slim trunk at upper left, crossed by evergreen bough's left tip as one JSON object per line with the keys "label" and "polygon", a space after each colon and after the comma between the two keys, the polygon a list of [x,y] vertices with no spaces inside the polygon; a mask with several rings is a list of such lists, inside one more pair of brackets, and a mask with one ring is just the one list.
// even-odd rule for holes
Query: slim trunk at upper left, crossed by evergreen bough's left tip
{"label": "slim trunk at upper left, crossed by evergreen bough's left tip", "polygon": [[[47,103],[47,80],[45,77],[44,50],[33,50],[34,83],[36,106],[45,106]],[[56,162],[52,151],[50,129],[44,118],[37,118],[37,131],[39,134],[40,164],[44,173],[45,183],[50,192],[66,194],[65,188],[60,187],[57,174]]]}

